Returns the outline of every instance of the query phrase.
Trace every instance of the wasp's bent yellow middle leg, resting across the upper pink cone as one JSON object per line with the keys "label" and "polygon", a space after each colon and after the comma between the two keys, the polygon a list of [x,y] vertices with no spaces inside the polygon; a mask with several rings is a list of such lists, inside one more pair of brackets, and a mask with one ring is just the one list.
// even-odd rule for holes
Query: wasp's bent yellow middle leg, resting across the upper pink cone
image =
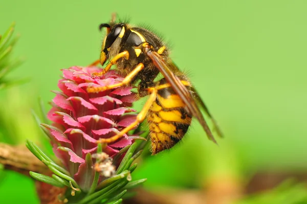
{"label": "wasp's bent yellow middle leg, resting across the upper pink cone", "polygon": [[89,87],[86,89],[87,93],[97,93],[109,89],[114,89],[116,87],[121,87],[130,83],[130,81],[144,68],[144,64],[140,63],[137,67],[132,70],[120,83],[104,86],[104,87]]}

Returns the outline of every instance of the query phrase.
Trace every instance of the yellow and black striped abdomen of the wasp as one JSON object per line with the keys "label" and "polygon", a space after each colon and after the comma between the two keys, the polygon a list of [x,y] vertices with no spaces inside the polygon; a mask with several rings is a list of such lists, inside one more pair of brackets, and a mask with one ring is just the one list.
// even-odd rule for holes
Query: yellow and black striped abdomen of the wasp
{"label": "yellow and black striped abdomen of the wasp", "polygon": [[[186,81],[186,84],[189,83]],[[152,154],[176,145],[186,134],[192,119],[185,104],[165,78],[159,81],[157,91],[157,99],[147,115]]]}

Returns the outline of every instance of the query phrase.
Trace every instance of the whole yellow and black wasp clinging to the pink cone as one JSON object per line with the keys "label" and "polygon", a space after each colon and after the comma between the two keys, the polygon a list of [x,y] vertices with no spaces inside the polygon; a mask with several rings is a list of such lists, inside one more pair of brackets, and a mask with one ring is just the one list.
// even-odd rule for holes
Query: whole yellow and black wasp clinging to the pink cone
{"label": "whole yellow and black wasp clinging to the pink cone", "polygon": [[[155,33],[127,23],[101,24],[106,28],[100,59],[92,65],[106,65],[100,73],[105,74],[113,65],[124,79],[114,85],[89,87],[87,92],[100,92],[126,85],[136,85],[138,96],[149,96],[134,123],[111,138],[101,138],[97,142],[109,143],[121,138],[147,119],[151,152],[157,154],[170,149],[186,134],[192,117],[198,119],[208,138],[216,143],[200,109],[212,120],[213,128],[222,136],[216,121],[210,114],[198,92],[187,76],[179,70],[169,57],[169,49]],[[108,63],[106,63],[108,62]],[[160,80],[156,80],[159,73]]]}

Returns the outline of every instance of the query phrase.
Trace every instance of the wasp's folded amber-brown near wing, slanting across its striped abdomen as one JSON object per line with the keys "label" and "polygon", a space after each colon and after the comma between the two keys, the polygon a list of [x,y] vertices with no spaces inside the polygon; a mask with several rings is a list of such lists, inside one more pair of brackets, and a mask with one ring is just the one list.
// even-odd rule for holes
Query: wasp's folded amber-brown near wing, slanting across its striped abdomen
{"label": "wasp's folded amber-brown near wing, slanting across its striped abdomen", "polygon": [[200,109],[198,108],[192,94],[189,90],[181,83],[181,80],[168,68],[161,56],[152,50],[146,51],[147,56],[152,60],[152,63],[159,69],[162,75],[166,78],[168,83],[171,85],[173,90],[180,96],[183,102],[186,104],[189,113],[199,120],[200,124],[203,126],[207,136],[210,140],[216,143],[212,132],[210,131],[208,124],[202,115]]}

